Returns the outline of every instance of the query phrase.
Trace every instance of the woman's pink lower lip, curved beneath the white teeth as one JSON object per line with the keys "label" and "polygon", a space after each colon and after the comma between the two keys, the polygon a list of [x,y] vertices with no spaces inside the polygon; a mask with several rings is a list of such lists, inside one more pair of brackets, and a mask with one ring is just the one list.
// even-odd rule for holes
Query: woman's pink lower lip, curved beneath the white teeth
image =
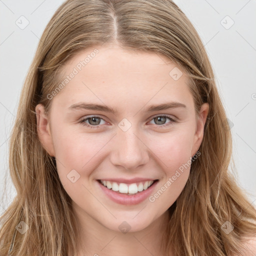
{"label": "woman's pink lower lip, curved beneath the white teeth", "polygon": [[154,181],[154,183],[152,183],[152,185],[149,186],[147,189],[134,195],[115,192],[112,189],[108,189],[107,187],[105,187],[103,184],[100,183],[100,181],[96,182],[98,183],[102,191],[114,202],[124,205],[134,205],[144,201],[147,197],[149,197],[158,180]]}

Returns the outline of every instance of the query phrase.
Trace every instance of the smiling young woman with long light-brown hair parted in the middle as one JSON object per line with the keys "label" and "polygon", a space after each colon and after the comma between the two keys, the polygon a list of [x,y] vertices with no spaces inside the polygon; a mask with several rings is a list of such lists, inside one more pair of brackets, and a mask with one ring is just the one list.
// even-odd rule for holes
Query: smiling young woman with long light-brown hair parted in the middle
{"label": "smiling young woman with long light-brown hair parted in the middle", "polygon": [[22,88],[0,255],[255,255],[231,149],[211,64],[176,4],[67,0]]}

